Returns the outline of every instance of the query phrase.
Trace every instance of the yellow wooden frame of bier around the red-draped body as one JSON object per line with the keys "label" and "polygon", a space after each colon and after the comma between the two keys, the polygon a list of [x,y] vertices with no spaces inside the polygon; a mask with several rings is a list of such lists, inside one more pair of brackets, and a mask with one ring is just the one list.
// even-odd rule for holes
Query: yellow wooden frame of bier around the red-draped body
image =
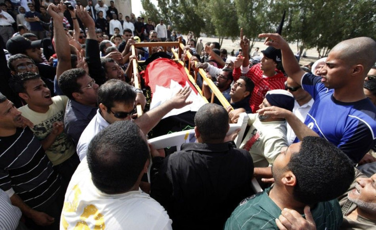
{"label": "yellow wooden frame of bier around the red-draped body", "polygon": [[[221,91],[219,91],[219,89],[214,84],[214,82],[211,79],[209,79],[209,78],[206,77],[206,73],[205,73],[205,71],[202,68],[200,68],[199,70],[196,69],[195,72],[194,72],[194,76],[192,76],[190,74],[191,73],[191,68],[192,68],[191,62],[189,61],[188,68],[185,67],[184,61],[191,59],[192,54],[190,52],[186,52],[186,58],[187,59],[183,60],[184,56],[182,56],[182,55],[183,55],[184,45],[181,42],[181,37],[179,37],[179,41],[141,42],[141,43],[138,42],[138,43],[135,43],[135,44],[132,45],[132,48],[131,48],[132,49],[132,55],[136,56],[137,55],[136,54],[136,48],[141,48],[141,47],[148,47],[149,50],[152,50],[152,47],[162,47],[163,51],[165,51],[165,52],[167,52],[167,47],[178,47],[178,52],[175,52],[174,49],[171,49],[171,52],[174,55],[173,60],[176,63],[181,64],[184,67],[188,79],[196,87],[197,91],[202,96],[202,98],[204,99],[204,101],[208,103],[207,99],[202,95],[203,89],[201,89],[197,85],[197,73],[200,73],[200,75],[202,77],[202,80],[207,83],[207,85],[210,87],[210,89],[213,92],[212,96],[210,97],[210,102],[213,103],[214,96],[216,96],[218,98],[218,100],[221,102],[221,104],[222,104],[223,107],[227,108],[228,106],[230,106],[230,103],[222,95]],[[137,76],[139,76],[138,75],[138,68],[137,68],[137,66],[138,66],[138,63],[142,63],[142,62],[145,62],[145,61],[137,61],[136,59],[133,59],[132,63],[130,63],[130,64],[133,65],[133,73],[132,73],[132,75],[133,75],[133,78],[134,78],[134,86],[136,88],[141,88],[141,86],[140,86],[140,79],[137,77]],[[197,61],[195,61],[195,65],[196,64],[197,64]],[[232,109],[232,107],[231,107],[231,109]],[[141,105],[137,105],[137,116],[139,117],[142,114],[143,114],[143,110],[141,108]]]}

